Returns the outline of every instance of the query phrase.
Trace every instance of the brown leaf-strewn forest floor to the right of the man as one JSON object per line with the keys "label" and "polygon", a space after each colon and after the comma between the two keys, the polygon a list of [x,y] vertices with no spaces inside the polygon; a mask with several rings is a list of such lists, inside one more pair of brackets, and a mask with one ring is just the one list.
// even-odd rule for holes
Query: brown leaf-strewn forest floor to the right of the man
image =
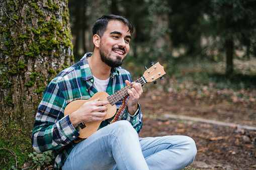
{"label": "brown leaf-strewn forest floor to the right of the man", "polygon": [[[216,88],[211,82],[198,84],[201,79],[180,79],[143,87],[139,136],[192,137],[198,152],[185,169],[256,169],[256,88]],[[169,118],[177,115],[183,118]],[[48,162],[41,169],[53,168]]]}

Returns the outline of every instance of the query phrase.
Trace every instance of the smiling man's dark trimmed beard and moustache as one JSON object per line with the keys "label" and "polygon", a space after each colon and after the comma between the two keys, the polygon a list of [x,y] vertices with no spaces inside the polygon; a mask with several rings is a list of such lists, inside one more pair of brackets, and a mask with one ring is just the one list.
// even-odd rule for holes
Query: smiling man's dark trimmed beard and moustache
{"label": "smiling man's dark trimmed beard and moustache", "polygon": [[[119,67],[123,64],[123,59],[119,56],[111,56],[111,52],[108,52],[107,49],[104,47],[104,45],[101,43],[100,44],[100,55],[101,55],[101,60],[103,61],[103,63],[107,64],[109,67]],[[126,53],[124,48],[121,47],[113,47],[113,50],[123,50],[124,54]]]}

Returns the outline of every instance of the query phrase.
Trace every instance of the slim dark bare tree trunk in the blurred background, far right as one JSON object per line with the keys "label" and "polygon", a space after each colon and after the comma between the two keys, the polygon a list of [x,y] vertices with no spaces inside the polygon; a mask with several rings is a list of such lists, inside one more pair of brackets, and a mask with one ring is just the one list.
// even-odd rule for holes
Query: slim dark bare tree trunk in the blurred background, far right
{"label": "slim dark bare tree trunk in the blurred background, far right", "polygon": [[226,76],[233,73],[233,56],[234,56],[234,43],[232,40],[226,40]]}

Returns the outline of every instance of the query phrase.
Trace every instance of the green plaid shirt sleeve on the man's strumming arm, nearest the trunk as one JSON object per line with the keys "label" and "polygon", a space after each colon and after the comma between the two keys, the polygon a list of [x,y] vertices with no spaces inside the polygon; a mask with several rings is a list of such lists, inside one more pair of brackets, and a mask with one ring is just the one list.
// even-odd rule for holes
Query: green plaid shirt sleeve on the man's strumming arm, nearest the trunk
{"label": "green plaid shirt sleeve on the man's strumming arm, nearest the trunk", "polygon": [[64,116],[66,100],[58,83],[52,81],[45,89],[38,106],[32,132],[32,145],[36,152],[58,149],[79,136],[79,128],[74,128],[69,115]]}

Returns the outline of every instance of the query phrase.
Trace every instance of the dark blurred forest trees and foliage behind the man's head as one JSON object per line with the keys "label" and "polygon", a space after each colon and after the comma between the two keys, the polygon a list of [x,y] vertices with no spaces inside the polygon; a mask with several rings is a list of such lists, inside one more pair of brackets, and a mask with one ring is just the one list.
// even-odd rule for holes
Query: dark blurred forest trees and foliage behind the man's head
{"label": "dark blurred forest trees and foliage behind the man's head", "polygon": [[134,25],[127,57],[133,65],[161,61],[172,73],[175,57],[199,56],[213,62],[226,61],[223,69],[231,76],[233,59],[244,61],[256,56],[255,2],[69,0],[75,60],[93,51],[93,23],[102,15],[115,14]]}

